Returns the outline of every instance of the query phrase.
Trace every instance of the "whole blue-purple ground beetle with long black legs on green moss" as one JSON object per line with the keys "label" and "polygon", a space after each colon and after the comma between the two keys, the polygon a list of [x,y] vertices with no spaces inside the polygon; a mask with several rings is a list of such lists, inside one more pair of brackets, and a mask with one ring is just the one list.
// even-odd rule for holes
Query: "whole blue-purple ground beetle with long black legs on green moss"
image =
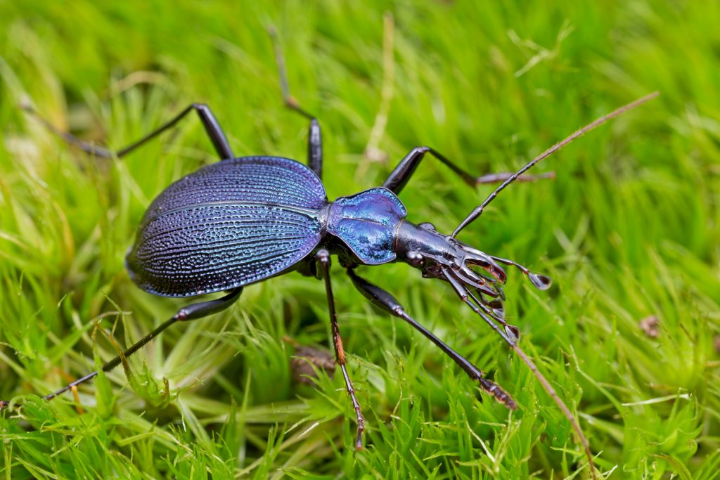
{"label": "whole blue-purple ground beetle with long black legs on green moss", "polygon": [[[50,130],[81,150],[99,157],[122,158],[173,127],[190,112],[196,112],[220,156],[219,163],[205,166],[181,178],[150,204],[140,222],[135,245],[127,253],[126,266],[132,280],[151,294],[175,297],[217,291],[226,291],[227,294],[219,299],[179,309],[171,319],[128,348],[123,356],[127,358],[132,355],[176,322],[195,320],[227,309],[238,300],[246,285],[290,271],[315,276],[325,282],[336,361],[356,413],[355,447],[361,448],[364,418],[346,370],[330,284],[330,255],[337,255],[361,294],[387,313],[410,323],[450,356],[484,391],[506,407],[516,409],[517,404],[510,394],[486,379],[485,373],[479,368],[410,317],[390,293],[362,279],[355,271],[361,265],[403,261],[418,268],[423,277],[449,282],[460,299],[518,353],[572,423],[588,455],[590,468],[593,468],[588,442],[575,417],[531,359],[519,348],[518,328],[508,325],[503,318],[502,286],[505,284],[505,271],[501,264],[519,268],[541,290],[549,287],[550,279],[531,273],[516,262],[487,255],[456,240],[456,236],[480,217],[498,192],[518,180],[518,177],[523,179],[521,175],[529,168],[599,124],[654,98],[657,92],[577,130],[513,174],[476,178],[436,150],[418,147],[410,150],[382,186],[328,201],[320,180],[323,167],[320,125],[314,116],[302,109],[290,96],[282,52],[277,44],[275,50],[285,104],[310,120],[309,168],[289,158],[266,155],[235,157],[215,115],[204,104],[190,105],[158,130],[117,153],[90,145],[69,133],[59,132],[35,114]],[[26,109],[35,113],[29,107]],[[405,218],[408,212],[397,197],[428,153],[471,186],[503,182],[460,223],[452,235],[438,232],[430,223],[416,225],[408,221]],[[109,371],[120,362],[121,356],[118,356],[106,363],[102,370]],[[89,373],[63,389],[48,394],[45,399],[53,399],[97,374],[96,371]],[[0,407],[6,405],[6,402],[0,403]]]}

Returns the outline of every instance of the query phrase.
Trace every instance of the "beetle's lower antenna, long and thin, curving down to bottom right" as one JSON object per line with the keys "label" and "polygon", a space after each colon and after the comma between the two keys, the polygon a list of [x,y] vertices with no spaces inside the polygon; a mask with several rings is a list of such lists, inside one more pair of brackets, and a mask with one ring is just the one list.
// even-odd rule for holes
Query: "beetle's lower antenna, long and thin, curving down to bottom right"
{"label": "beetle's lower antenna, long and thin, curving down to bottom right", "polygon": [[[492,321],[490,317],[485,314],[485,312],[482,311],[480,308],[480,305],[475,304],[474,302],[477,302],[477,298],[472,295],[469,290],[467,290],[464,286],[458,284],[456,281],[451,281],[451,275],[448,273],[448,271],[443,271],[446,279],[449,281],[451,286],[455,289],[456,293],[460,297],[460,299],[469,305],[469,307],[475,312],[476,314],[480,315],[482,320],[487,323],[487,325],[490,325],[490,328],[492,330],[495,330],[498,335],[500,335],[503,340],[505,340],[505,343],[510,345],[510,348],[512,348],[515,353],[520,357],[520,359],[525,363],[528,368],[533,372],[533,375],[536,379],[542,384],[543,389],[549,394],[550,397],[554,400],[554,402],[557,404],[558,407],[562,410],[562,413],[565,415],[567,420],[572,425],[572,430],[575,430],[575,434],[577,435],[577,438],[580,439],[580,443],[582,443],[582,447],[585,449],[585,456],[588,458],[588,463],[590,464],[590,474],[593,476],[593,479],[598,478],[598,472],[595,469],[595,463],[593,463],[593,452],[590,450],[590,443],[588,443],[588,438],[585,437],[585,434],[582,433],[582,430],[580,429],[580,424],[577,423],[577,420],[575,420],[575,416],[572,415],[572,412],[570,412],[570,409],[567,408],[567,405],[560,399],[560,397],[557,394],[557,391],[552,387],[549,381],[545,378],[545,376],[539,371],[537,366],[535,365],[534,361],[531,360],[530,357],[527,356],[527,354],[523,351],[522,348],[518,345],[516,339],[513,339],[511,335],[508,335],[508,333],[503,332],[503,330],[500,330],[500,327]],[[474,301],[474,302],[473,302]]]}

